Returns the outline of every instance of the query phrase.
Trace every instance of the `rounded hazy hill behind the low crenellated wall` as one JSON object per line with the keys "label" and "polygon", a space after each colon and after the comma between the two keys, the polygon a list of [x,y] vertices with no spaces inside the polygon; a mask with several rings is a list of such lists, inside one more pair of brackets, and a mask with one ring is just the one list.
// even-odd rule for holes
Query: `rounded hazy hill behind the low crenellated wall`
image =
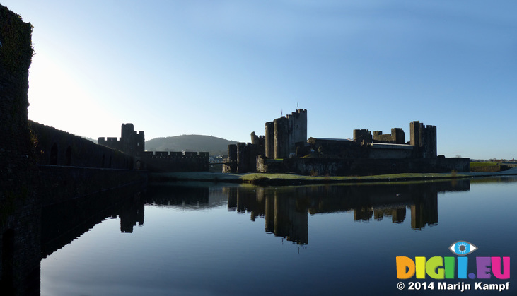
{"label": "rounded hazy hill behind the low crenellated wall", "polygon": [[236,144],[223,138],[202,135],[182,135],[165,138],[153,138],[146,141],[148,151],[201,151],[210,155],[228,154],[228,145]]}

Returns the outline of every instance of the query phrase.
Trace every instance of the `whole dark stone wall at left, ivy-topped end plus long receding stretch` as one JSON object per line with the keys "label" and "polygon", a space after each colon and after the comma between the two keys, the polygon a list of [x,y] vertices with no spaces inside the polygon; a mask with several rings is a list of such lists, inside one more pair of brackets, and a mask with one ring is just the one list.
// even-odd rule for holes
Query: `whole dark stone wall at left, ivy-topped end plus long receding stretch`
{"label": "whole dark stone wall at left, ivy-topped end plus long receding stretch", "polygon": [[[42,207],[146,179],[134,158],[28,122],[33,27],[0,5],[0,293],[39,295]],[[32,129],[31,129],[32,128]],[[88,167],[88,168],[86,168]]]}

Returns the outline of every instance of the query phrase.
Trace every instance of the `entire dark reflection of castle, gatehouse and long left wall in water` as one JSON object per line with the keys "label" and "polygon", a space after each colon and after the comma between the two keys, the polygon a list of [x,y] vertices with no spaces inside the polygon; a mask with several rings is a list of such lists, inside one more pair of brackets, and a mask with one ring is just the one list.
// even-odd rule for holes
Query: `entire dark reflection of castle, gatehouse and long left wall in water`
{"label": "entire dark reflection of castle, gatehouse and long left wall in water", "polygon": [[[309,243],[311,216],[347,213],[358,222],[391,219],[413,230],[438,223],[438,194],[469,191],[471,182],[516,182],[517,179],[454,179],[434,182],[255,187],[237,184],[152,184],[146,189],[124,188],[73,199],[42,208],[41,258],[72,243],[106,218],[120,218],[120,232],[144,226],[144,210],[166,207],[175,211],[228,208],[230,213],[264,219],[265,232],[294,244]],[[148,208],[149,209],[149,208]],[[170,211],[170,215],[175,215]],[[409,211],[409,212],[408,212]],[[353,213],[353,215],[352,215]],[[406,219],[410,219],[407,223]],[[312,220],[311,220],[312,222]],[[385,227],[385,226],[384,226]],[[318,228],[317,226],[315,228]],[[39,270],[39,268],[38,268]],[[38,274],[39,276],[39,274]],[[34,278],[39,290],[40,279]]]}

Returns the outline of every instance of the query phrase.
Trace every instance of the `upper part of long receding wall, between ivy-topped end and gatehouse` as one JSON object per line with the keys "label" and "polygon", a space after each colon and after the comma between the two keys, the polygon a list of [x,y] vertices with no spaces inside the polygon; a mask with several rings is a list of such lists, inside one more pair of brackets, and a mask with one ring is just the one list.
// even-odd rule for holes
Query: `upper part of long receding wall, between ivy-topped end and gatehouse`
{"label": "upper part of long receding wall, between ivy-topped end and gatehouse", "polygon": [[30,122],[37,139],[36,160],[39,165],[99,167],[132,170],[137,161],[120,150],[97,145],[80,136]]}

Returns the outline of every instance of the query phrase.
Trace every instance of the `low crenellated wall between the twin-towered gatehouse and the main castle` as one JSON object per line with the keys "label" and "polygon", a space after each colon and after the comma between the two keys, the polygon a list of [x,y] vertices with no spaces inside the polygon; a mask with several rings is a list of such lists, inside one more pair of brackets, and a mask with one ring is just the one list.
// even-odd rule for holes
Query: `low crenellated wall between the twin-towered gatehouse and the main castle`
{"label": "low crenellated wall between the twin-towered gatehouse and the main castle", "polygon": [[207,172],[208,152],[146,151],[142,161],[149,172]]}

